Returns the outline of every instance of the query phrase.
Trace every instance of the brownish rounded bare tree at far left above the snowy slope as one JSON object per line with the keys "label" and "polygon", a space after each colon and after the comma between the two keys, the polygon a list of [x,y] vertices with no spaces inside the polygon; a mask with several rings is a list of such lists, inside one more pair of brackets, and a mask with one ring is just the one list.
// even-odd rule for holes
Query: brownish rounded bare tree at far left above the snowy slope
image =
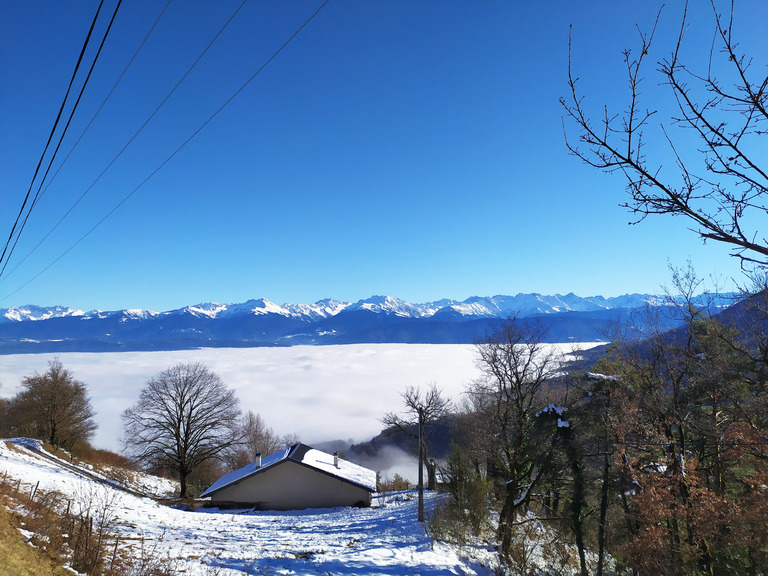
{"label": "brownish rounded bare tree at far left above the snowy slope", "polygon": [[88,392],[58,358],[48,362],[44,374],[25,377],[21,387],[7,407],[16,433],[37,436],[67,450],[89,445],[96,424]]}

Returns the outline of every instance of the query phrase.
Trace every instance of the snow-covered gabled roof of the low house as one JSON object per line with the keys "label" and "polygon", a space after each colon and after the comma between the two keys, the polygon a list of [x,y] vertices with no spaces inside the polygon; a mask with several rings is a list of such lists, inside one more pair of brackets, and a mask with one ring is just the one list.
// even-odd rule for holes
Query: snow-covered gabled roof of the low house
{"label": "snow-covered gabled roof of the low house", "polygon": [[332,454],[316,450],[306,444],[298,443],[262,458],[261,466],[257,462],[252,462],[234,472],[224,474],[224,476],[203,492],[200,497],[206,498],[211,496],[222,488],[242,482],[256,474],[262,474],[270,468],[289,461],[313,468],[323,474],[334,476],[339,480],[355,484],[371,492],[376,491],[376,472],[373,470],[363,468],[341,458],[338,459],[338,466],[335,466]]}

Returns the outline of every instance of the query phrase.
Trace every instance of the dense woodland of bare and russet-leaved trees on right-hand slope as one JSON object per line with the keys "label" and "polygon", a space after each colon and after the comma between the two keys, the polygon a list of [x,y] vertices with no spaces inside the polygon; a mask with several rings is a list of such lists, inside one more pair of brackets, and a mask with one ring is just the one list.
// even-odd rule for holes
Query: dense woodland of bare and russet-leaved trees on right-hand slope
{"label": "dense woodland of bare and russet-leaved trees on right-hand slope", "polygon": [[524,572],[544,523],[583,576],[768,573],[768,292],[721,312],[694,304],[690,268],[673,281],[627,330],[646,337],[617,326],[597,359],[554,354],[516,317],[477,344],[435,537],[495,532]]}

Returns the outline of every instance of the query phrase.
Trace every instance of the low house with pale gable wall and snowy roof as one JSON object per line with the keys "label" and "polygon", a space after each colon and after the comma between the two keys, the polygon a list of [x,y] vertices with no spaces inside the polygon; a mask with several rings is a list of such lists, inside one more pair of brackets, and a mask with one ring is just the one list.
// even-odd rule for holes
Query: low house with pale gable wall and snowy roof
{"label": "low house with pale gable wall and snowy roof", "polygon": [[200,497],[218,506],[301,510],[370,506],[375,491],[373,470],[299,443],[225,474]]}

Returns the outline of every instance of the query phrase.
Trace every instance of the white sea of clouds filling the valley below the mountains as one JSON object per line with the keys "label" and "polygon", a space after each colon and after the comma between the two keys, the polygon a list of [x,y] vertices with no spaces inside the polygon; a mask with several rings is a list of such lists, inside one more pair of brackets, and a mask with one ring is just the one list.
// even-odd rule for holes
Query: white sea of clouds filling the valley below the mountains
{"label": "white sea of clouds filling the valley below the mountains", "polygon": [[[0,395],[15,394],[24,376],[45,372],[54,357],[0,356]],[[88,386],[98,424],[94,444],[110,450],[120,447],[123,410],[136,401],[149,378],[180,362],[202,362],[237,392],[243,410],[261,414],[276,433],[296,433],[310,445],[370,440],[381,431],[384,414],[402,410],[400,393],[406,387],[434,382],[458,401],[479,376],[475,347],[457,344],[66,353],[58,358]]]}

